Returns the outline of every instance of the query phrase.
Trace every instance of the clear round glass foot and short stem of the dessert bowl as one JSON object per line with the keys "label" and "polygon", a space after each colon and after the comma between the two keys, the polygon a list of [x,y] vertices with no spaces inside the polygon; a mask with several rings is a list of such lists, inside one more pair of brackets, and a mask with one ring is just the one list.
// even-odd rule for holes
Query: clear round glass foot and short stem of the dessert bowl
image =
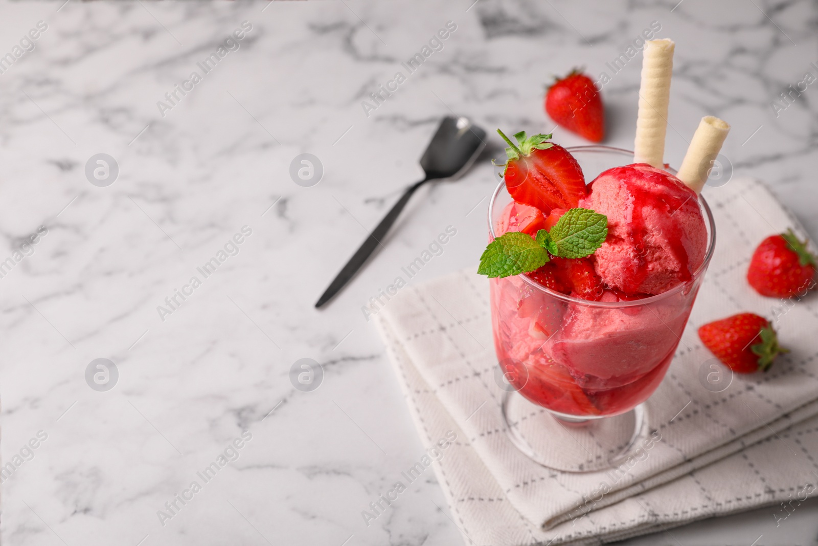
{"label": "clear round glass foot and short stem of the dessert bowl", "polygon": [[506,434],[515,447],[543,467],[563,472],[600,472],[645,460],[645,404],[613,417],[582,419],[551,412],[516,390],[502,403]]}

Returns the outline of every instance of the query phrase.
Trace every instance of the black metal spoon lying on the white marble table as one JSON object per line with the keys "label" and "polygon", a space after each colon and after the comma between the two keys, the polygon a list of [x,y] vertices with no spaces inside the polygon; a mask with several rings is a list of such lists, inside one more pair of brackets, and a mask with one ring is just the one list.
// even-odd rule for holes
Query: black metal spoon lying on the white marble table
{"label": "black metal spoon lying on the white marble table", "polygon": [[366,241],[363,241],[361,248],[349,259],[344,268],[327,287],[326,291],[318,298],[316,307],[326,304],[343,288],[351,278],[354,277],[358,269],[366,263],[366,259],[372,254],[375,248],[380,245],[380,240],[384,238],[389,228],[398,219],[403,208],[409,202],[416,189],[423,186],[430,180],[440,180],[442,178],[457,178],[468,169],[483,147],[486,146],[486,132],[471,123],[469,118],[448,116],[443,118],[438,127],[438,132],[434,133],[429,147],[420,158],[420,166],[426,173],[426,178],[420,182],[407,187],[406,192],[393,205],[392,210],[384,216],[378,227],[372,230]]}

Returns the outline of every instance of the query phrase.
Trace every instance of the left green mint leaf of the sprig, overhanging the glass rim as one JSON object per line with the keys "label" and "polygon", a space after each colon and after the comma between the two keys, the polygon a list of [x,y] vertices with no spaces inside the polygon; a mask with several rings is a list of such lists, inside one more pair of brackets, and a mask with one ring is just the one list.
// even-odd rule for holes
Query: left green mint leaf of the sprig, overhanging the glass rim
{"label": "left green mint leaf of the sprig, overhanging the glass rim", "polygon": [[477,273],[489,278],[510,277],[542,267],[550,258],[546,249],[521,232],[508,232],[488,243]]}

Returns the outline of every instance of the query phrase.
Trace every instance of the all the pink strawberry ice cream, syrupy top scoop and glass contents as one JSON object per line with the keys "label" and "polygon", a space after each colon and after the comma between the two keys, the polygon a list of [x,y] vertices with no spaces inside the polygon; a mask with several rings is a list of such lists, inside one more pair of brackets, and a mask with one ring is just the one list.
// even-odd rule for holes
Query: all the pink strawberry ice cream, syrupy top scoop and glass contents
{"label": "all the pink strawberry ice cream, syrupy top scoop and glass contents", "polygon": [[[605,242],[586,258],[552,257],[537,271],[493,278],[492,322],[497,357],[521,395],[552,412],[601,417],[640,404],[662,381],[709,234],[698,196],[664,170],[615,167],[588,189],[579,206],[607,216]],[[510,201],[494,217],[494,236],[534,237],[563,213],[545,217]],[[680,283],[689,288],[640,303]]]}

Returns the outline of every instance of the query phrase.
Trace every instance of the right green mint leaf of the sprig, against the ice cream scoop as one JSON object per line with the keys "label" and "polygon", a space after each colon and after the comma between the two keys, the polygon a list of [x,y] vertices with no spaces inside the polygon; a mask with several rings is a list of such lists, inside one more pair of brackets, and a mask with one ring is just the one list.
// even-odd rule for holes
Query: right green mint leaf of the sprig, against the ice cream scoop
{"label": "right green mint leaf of the sprig, against the ice cream scoop", "polygon": [[602,246],[608,217],[588,209],[570,209],[551,228],[548,251],[560,258],[582,258]]}

